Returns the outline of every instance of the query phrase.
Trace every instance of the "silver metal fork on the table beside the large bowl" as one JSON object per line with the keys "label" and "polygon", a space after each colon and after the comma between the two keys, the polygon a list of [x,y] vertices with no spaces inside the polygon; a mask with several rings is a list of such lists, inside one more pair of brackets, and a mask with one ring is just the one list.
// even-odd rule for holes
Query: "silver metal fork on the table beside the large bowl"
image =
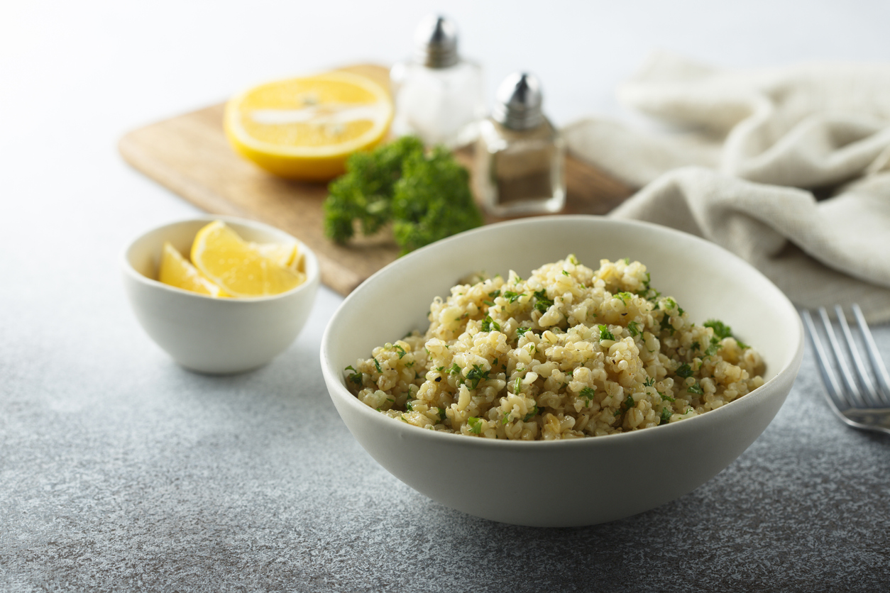
{"label": "silver metal fork on the table beside the large bowl", "polygon": [[[820,333],[813,323],[813,316],[805,310],[801,313],[801,317],[804,319],[806,333],[809,334],[810,343],[813,344],[813,350],[816,353],[816,365],[819,366],[822,384],[825,386],[826,399],[834,413],[854,428],[890,434],[890,376],[887,375],[886,366],[881,360],[878,346],[875,344],[869,326],[865,323],[865,317],[862,317],[862,309],[855,304],[852,309],[854,317],[856,317],[856,325],[859,326],[862,342],[868,352],[871,363],[870,370],[862,361],[853,332],[850,330],[850,325],[846,323],[844,309],[841,309],[839,305],[836,306],[835,314],[844,336],[845,350],[856,369],[856,376],[850,371],[847,355],[841,348],[840,341],[837,340],[828,311],[821,307],[819,317],[821,317],[822,331],[828,338],[834,354],[833,361],[822,346]],[[837,381],[835,368],[839,370],[843,384],[841,381]]]}

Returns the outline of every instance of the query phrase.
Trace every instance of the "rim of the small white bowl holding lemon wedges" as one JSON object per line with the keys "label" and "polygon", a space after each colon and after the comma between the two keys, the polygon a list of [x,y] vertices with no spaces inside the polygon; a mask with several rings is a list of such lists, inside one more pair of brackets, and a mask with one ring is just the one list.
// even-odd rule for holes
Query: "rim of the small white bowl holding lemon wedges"
{"label": "rim of the small white bowl holding lemon wedges", "polygon": [[[181,224],[186,224],[190,222],[213,222],[214,220],[222,220],[226,223],[232,223],[235,225],[241,225],[244,227],[255,228],[256,230],[262,230],[266,232],[277,233],[280,235],[285,235],[289,237],[291,240],[295,241],[296,244],[299,245],[301,252],[303,252],[304,257],[307,260],[306,265],[306,280],[303,284],[299,284],[294,288],[290,289],[286,292],[280,292],[279,294],[270,294],[266,296],[256,296],[256,297],[238,297],[232,299],[220,299],[218,297],[210,296],[208,294],[201,294],[199,292],[191,292],[182,288],[178,288],[176,286],[171,286],[170,284],[164,284],[155,278],[150,278],[149,276],[145,276],[140,273],[136,268],[133,267],[133,264],[130,263],[130,252],[134,248],[134,245],[140,242],[145,236],[150,235],[151,233],[158,232],[165,228],[174,227]],[[310,290],[310,286],[312,284],[317,284],[320,278],[320,267],[318,256],[316,256],[315,252],[312,251],[312,248],[309,245],[303,243],[299,238],[291,235],[286,230],[283,230],[278,227],[273,227],[271,224],[267,224],[265,222],[261,222],[259,220],[250,220],[245,218],[240,218],[238,216],[228,216],[228,215],[216,215],[216,214],[201,214],[198,216],[190,216],[188,218],[182,218],[177,220],[170,220],[164,224],[156,225],[151,228],[147,228],[139,235],[135,236],[134,239],[125,244],[124,248],[120,251],[118,255],[118,260],[120,262],[120,266],[124,271],[125,276],[134,280],[139,284],[143,284],[146,286],[151,286],[158,290],[172,292],[174,294],[182,294],[186,298],[193,299],[204,299],[206,301],[213,301],[218,303],[231,303],[222,305],[224,307],[239,305],[234,303],[244,303],[244,302],[263,302],[263,301],[278,301],[280,299],[284,299],[287,297],[291,297],[298,292],[303,292],[304,290]]]}

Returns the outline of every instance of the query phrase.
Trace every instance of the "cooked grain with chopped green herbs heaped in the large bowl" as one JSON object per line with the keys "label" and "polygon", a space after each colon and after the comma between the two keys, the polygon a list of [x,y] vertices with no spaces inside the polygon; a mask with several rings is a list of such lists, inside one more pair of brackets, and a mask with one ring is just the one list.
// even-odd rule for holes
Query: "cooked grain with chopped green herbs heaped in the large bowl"
{"label": "cooked grain with chopped green herbs heaped in the large bowl", "polygon": [[693,324],[638,261],[570,255],[522,280],[473,278],[430,327],[346,369],[362,402],[420,428],[522,440],[599,437],[681,421],[763,385],[756,350]]}

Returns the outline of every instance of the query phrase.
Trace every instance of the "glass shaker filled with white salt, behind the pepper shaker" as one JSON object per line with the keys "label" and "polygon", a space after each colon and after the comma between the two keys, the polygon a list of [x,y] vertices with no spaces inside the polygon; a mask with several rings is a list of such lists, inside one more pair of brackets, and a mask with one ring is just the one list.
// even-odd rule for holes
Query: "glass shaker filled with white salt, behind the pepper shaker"
{"label": "glass shaker filled with white salt, behind the pepper shaker", "polygon": [[413,60],[392,67],[395,99],[392,132],[414,134],[427,146],[457,148],[472,143],[485,117],[481,67],[457,53],[457,26],[430,15],[414,36]]}

